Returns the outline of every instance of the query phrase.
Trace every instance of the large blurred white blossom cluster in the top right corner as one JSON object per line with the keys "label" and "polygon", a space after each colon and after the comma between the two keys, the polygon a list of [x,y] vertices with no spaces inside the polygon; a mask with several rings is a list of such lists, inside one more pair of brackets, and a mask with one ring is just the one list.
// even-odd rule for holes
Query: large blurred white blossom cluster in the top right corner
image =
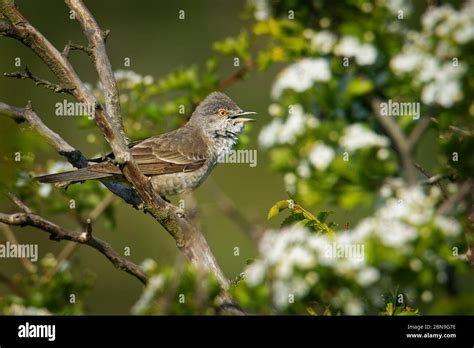
{"label": "large blurred white blossom cluster in the top right corner", "polygon": [[427,105],[451,107],[462,100],[461,79],[468,68],[455,57],[460,45],[474,41],[474,0],[459,11],[450,5],[428,9],[421,31],[410,31],[407,38],[402,52],[390,61],[393,72],[413,76],[413,84],[422,87],[421,100]]}

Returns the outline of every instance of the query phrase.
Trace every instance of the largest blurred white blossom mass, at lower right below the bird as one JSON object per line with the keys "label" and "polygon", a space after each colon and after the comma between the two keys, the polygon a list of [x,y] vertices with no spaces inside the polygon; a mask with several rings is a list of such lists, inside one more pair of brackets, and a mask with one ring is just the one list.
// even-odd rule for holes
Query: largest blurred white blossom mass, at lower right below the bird
{"label": "largest blurred white blossom mass, at lower right below the bird", "polygon": [[[372,217],[363,219],[352,230],[337,232],[336,237],[315,234],[297,225],[280,231],[267,231],[259,243],[260,259],[248,267],[245,281],[255,287],[270,279],[267,276],[271,274],[269,285],[273,302],[279,310],[284,310],[291,303],[289,298],[297,300],[309,294],[321,280],[320,274],[328,273],[323,271],[324,268],[330,268],[329,273],[335,277],[354,281],[363,288],[378,282],[381,272],[368,263],[365,255],[364,247],[368,243],[391,248],[407,259],[410,269],[419,272],[423,261],[413,257],[413,243],[420,238],[431,238],[431,235],[422,233],[424,226],[431,224],[451,237],[461,233],[456,220],[436,214],[435,205],[440,199],[436,187],[425,194],[421,187],[406,187],[394,180],[383,187],[381,195],[385,201]],[[362,254],[341,257],[335,252],[341,246],[359,247]],[[378,249],[370,250],[377,252]],[[439,257],[432,256],[424,262],[440,264]],[[383,255],[378,255],[380,257]],[[334,301],[340,302],[338,305],[345,314],[362,314],[357,299],[350,295],[338,293]]]}

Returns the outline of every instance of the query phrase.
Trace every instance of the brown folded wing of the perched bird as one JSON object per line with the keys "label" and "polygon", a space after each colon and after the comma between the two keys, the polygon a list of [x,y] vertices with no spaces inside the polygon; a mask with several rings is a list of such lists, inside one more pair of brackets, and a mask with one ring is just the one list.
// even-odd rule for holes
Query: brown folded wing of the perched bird
{"label": "brown folded wing of the perched bird", "polygon": [[[186,128],[132,143],[130,152],[145,175],[194,171],[206,161],[204,140]],[[110,162],[98,163],[90,169],[101,173],[121,173]]]}

